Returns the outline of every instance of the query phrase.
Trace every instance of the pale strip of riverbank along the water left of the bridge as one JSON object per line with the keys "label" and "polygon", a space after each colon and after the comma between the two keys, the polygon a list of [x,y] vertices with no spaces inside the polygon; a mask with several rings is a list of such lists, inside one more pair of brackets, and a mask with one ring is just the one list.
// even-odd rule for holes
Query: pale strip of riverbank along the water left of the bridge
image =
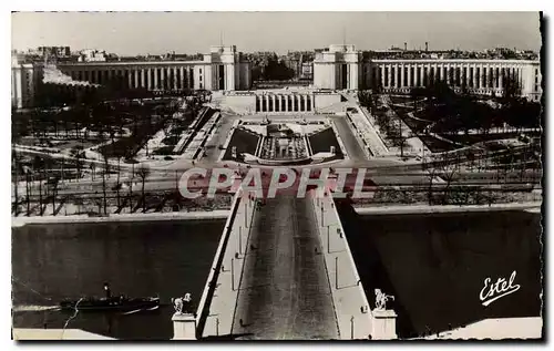
{"label": "pale strip of riverbank along the water left of the bridge", "polygon": [[61,223],[103,223],[103,221],[148,221],[148,220],[203,220],[225,219],[229,211],[216,209],[209,211],[188,213],[153,213],[153,214],[123,214],[109,215],[105,217],[89,217],[88,215],[73,216],[37,216],[37,217],[12,217],[12,227],[22,227],[29,224],[61,224]]}

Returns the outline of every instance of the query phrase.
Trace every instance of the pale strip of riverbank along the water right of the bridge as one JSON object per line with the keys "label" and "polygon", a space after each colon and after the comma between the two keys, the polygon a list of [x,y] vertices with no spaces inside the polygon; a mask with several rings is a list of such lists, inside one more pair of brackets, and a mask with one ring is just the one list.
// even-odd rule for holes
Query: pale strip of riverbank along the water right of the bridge
{"label": "pale strip of riverbank along the water right of the bridge", "polygon": [[358,215],[409,215],[409,214],[440,214],[489,210],[527,210],[541,211],[541,202],[492,204],[492,205],[398,205],[398,206],[353,206]]}

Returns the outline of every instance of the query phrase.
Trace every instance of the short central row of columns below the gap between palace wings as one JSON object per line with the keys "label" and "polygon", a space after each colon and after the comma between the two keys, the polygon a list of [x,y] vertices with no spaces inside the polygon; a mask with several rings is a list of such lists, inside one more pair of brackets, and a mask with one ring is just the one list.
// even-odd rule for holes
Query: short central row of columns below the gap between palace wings
{"label": "short central row of columns below the gap between palace wings", "polygon": [[256,95],[256,112],[312,112],[314,96],[310,94]]}

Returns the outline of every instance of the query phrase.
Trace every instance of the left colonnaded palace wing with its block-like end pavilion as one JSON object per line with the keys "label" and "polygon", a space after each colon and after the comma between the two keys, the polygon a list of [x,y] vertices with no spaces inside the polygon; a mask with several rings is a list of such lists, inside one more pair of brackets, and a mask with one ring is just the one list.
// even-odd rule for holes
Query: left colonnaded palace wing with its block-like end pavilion
{"label": "left colonnaded palace wing with its block-like end pavilion", "polygon": [[[235,91],[252,86],[252,68],[236,47],[212,47],[202,60],[182,61],[164,58],[106,60],[105,52],[84,51],[81,60],[57,62],[12,58],[12,106],[34,105],[42,84],[90,89],[114,78],[129,89],[148,91],[211,90]],[[45,74],[45,72],[48,74]]]}

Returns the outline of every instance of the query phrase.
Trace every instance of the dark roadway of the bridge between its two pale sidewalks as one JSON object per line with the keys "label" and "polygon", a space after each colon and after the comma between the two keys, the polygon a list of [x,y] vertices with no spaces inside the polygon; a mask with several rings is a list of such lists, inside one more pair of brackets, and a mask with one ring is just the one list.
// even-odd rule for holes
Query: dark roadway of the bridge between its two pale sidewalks
{"label": "dark roadway of the bridge between its two pale sidewalks", "polygon": [[338,338],[317,225],[308,206],[307,199],[279,196],[257,213],[233,334],[258,340]]}

